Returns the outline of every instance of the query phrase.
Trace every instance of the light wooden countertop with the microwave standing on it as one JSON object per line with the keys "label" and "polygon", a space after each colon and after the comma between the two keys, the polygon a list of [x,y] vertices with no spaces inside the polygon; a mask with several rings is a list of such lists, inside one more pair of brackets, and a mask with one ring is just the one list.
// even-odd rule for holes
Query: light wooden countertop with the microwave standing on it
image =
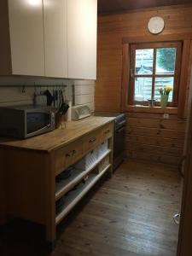
{"label": "light wooden countertop with the microwave standing on it", "polygon": [[65,129],[59,128],[37,137],[23,140],[2,137],[0,138],[0,148],[27,149],[49,153],[68,143],[72,143],[79,137],[98,129],[113,120],[114,118],[111,117],[90,116],[89,118],[79,121],[67,122]]}

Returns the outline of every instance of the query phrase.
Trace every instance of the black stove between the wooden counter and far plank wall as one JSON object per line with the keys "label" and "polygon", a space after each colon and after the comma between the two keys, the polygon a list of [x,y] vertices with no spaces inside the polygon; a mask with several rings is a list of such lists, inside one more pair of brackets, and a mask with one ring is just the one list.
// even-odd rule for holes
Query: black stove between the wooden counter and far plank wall
{"label": "black stove between the wooden counter and far plank wall", "polygon": [[113,171],[125,158],[125,113],[96,112],[96,116],[114,117]]}

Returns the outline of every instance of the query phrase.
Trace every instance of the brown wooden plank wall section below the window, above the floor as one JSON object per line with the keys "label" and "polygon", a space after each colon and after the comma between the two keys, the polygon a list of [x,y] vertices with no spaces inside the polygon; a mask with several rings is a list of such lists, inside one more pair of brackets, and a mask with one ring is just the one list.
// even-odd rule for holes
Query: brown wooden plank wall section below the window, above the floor
{"label": "brown wooden plank wall section below the window, above the floor", "polygon": [[183,155],[185,122],[158,113],[127,113],[126,155],[178,165]]}

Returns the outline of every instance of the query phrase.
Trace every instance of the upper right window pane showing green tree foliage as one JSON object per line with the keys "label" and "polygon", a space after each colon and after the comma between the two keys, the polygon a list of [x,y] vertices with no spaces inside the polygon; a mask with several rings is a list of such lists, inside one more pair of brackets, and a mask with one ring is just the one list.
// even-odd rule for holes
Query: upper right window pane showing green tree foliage
{"label": "upper right window pane showing green tree foliage", "polygon": [[175,73],[176,48],[157,49],[156,73]]}

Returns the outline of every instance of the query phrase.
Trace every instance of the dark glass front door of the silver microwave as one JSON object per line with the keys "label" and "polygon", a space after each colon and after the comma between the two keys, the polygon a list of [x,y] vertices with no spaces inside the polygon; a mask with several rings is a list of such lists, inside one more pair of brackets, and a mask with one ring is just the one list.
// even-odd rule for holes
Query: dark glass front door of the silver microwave
{"label": "dark glass front door of the silver microwave", "polygon": [[32,137],[50,129],[50,112],[26,112],[26,137]]}

